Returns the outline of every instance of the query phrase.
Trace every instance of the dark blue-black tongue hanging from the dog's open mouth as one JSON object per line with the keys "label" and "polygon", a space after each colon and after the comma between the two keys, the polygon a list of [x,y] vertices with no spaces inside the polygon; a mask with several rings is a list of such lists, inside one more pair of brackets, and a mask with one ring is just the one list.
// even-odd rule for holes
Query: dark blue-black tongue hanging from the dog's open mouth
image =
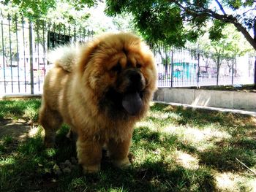
{"label": "dark blue-black tongue hanging from the dog's open mouth", "polygon": [[127,93],[123,97],[122,105],[130,115],[136,115],[142,107],[142,100],[139,93]]}

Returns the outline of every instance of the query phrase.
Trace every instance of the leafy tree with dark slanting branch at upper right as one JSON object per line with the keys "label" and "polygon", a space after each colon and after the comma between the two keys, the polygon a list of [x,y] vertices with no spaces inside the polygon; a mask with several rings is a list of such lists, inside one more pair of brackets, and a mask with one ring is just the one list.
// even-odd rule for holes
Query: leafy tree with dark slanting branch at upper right
{"label": "leafy tree with dark slanting branch at upper right", "polygon": [[108,15],[132,12],[136,26],[146,39],[183,46],[187,40],[195,41],[204,34],[206,32],[204,27],[211,22],[213,26],[209,30],[209,37],[219,40],[222,37],[222,28],[227,23],[231,23],[256,50],[255,0],[145,0],[143,3],[136,0],[107,0],[106,2]]}

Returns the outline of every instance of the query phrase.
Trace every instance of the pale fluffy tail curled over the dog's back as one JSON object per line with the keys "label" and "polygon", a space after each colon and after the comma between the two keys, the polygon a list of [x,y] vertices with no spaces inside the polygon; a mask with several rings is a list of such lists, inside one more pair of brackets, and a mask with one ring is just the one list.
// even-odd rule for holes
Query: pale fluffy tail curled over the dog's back
{"label": "pale fluffy tail curled over the dog's back", "polygon": [[65,45],[50,51],[48,61],[60,66],[67,72],[72,72],[73,66],[78,59],[78,45]]}

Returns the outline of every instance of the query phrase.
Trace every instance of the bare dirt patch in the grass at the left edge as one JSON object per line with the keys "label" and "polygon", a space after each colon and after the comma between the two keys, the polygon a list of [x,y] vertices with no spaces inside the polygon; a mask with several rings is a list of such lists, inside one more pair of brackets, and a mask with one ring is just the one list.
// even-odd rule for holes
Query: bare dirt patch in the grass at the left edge
{"label": "bare dirt patch in the grass at the left edge", "polygon": [[21,141],[29,137],[33,127],[25,120],[1,120],[0,121],[0,142],[5,136]]}

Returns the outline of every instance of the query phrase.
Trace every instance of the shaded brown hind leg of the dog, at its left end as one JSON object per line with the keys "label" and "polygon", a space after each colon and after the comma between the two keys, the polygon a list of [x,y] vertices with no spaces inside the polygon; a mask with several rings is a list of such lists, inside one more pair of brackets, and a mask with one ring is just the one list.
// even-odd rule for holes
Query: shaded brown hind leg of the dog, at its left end
{"label": "shaded brown hind leg of the dog, at its left end", "polygon": [[45,129],[45,147],[55,145],[56,131],[60,128],[63,120],[56,110],[50,110],[43,106],[39,112],[39,123]]}

